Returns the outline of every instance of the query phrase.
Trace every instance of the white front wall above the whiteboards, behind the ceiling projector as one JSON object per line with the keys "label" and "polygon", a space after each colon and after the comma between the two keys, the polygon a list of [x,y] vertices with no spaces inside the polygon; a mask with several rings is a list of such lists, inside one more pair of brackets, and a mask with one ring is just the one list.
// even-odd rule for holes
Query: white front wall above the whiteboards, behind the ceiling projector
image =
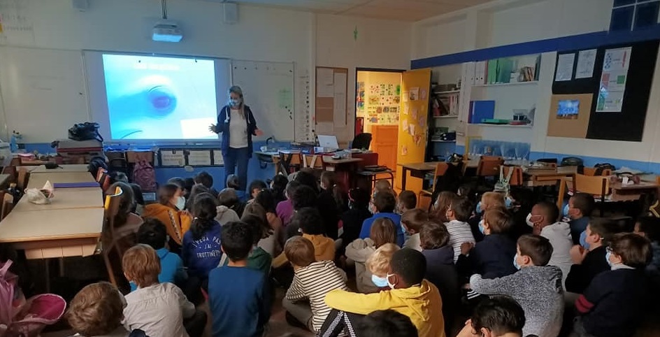
{"label": "white front wall above the whiteboards, behind the ceiling projector", "polygon": [[[350,69],[349,88],[353,87],[356,66],[408,69],[410,64],[411,24],[406,22],[241,5],[238,24],[223,24],[219,3],[171,0],[168,17],[179,22],[184,40],[155,43],[151,41],[150,31],[161,15],[160,1],[89,2],[89,10],[78,12],[71,8],[70,0],[22,1],[22,13],[33,24],[34,31],[30,34],[5,31],[0,34],[0,48],[11,45],[295,62],[296,75],[309,73],[311,83],[316,65],[338,66]],[[355,27],[359,30],[357,41],[353,39]],[[306,89],[296,80],[296,96],[304,92]],[[302,111],[305,102],[296,101],[296,111]],[[313,111],[313,99],[310,101]],[[338,136],[345,141],[353,136],[352,89],[347,101],[351,126],[338,130]],[[29,130],[21,131],[29,133]]]}

